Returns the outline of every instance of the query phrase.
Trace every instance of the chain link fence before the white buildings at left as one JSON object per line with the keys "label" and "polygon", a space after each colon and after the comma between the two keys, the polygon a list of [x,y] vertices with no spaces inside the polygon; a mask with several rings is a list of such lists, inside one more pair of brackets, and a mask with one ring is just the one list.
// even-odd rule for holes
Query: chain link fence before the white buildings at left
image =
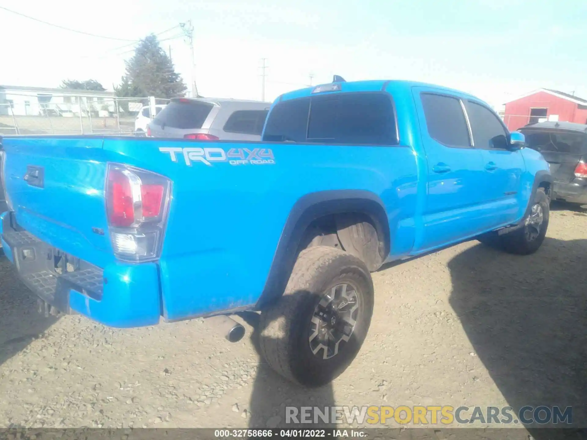
{"label": "chain link fence before the white buildings at left", "polygon": [[[0,101],[0,136],[27,134],[144,134],[135,132],[137,117],[150,117],[150,97],[42,96],[11,93]],[[157,105],[168,99],[155,99]]]}

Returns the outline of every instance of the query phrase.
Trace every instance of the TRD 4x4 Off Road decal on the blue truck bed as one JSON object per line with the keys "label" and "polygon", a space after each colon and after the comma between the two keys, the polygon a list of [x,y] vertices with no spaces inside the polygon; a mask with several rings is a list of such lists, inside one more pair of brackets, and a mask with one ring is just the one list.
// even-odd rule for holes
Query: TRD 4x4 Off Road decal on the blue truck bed
{"label": "TRD 4x4 Off Road decal on the blue truck bed", "polygon": [[228,162],[231,165],[265,165],[275,164],[271,148],[224,148],[210,147],[160,147],[161,153],[169,153],[171,160],[177,162],[178,156],[183,157],[185,165],[191,167],[193,162],[201,162],[209,167],[212,162]]}

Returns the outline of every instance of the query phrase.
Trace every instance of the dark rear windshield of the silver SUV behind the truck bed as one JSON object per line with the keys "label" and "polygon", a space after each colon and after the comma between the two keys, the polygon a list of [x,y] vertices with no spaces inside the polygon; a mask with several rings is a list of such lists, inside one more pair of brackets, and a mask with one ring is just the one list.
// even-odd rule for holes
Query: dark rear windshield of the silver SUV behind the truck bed
{"label": "dark rear windshield of the silver SUV behind the truck bed", "polygon": [[171,100],[153,122],[171,128],[202,128],[214,104],[193,99]]}

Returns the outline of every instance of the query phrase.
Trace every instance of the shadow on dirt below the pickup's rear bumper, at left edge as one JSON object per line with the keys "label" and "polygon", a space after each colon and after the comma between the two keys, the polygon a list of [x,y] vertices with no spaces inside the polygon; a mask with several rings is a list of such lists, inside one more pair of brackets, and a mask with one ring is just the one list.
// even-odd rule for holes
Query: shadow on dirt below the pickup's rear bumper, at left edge
{"label": "shadow on dirt below the pickup's rear bumper, at left edge", "polygon": [[58,318],[37,312],[36,299],[0,248],[0,365],[39,339]]}

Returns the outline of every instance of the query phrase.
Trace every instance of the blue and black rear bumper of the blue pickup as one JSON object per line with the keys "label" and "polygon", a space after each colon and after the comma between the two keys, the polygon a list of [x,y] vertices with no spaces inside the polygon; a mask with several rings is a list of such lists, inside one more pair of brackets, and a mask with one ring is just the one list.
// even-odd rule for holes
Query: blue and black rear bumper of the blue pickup
{"label": "blue and black rear bumper of the blue pickup", "polygon": [[104,269],[97,268],[19,228],[10,212],[0,219],[6,257],[23,283],[51,306],[111,327],[159,322],[161,294],[156,263],[112,263]]}

